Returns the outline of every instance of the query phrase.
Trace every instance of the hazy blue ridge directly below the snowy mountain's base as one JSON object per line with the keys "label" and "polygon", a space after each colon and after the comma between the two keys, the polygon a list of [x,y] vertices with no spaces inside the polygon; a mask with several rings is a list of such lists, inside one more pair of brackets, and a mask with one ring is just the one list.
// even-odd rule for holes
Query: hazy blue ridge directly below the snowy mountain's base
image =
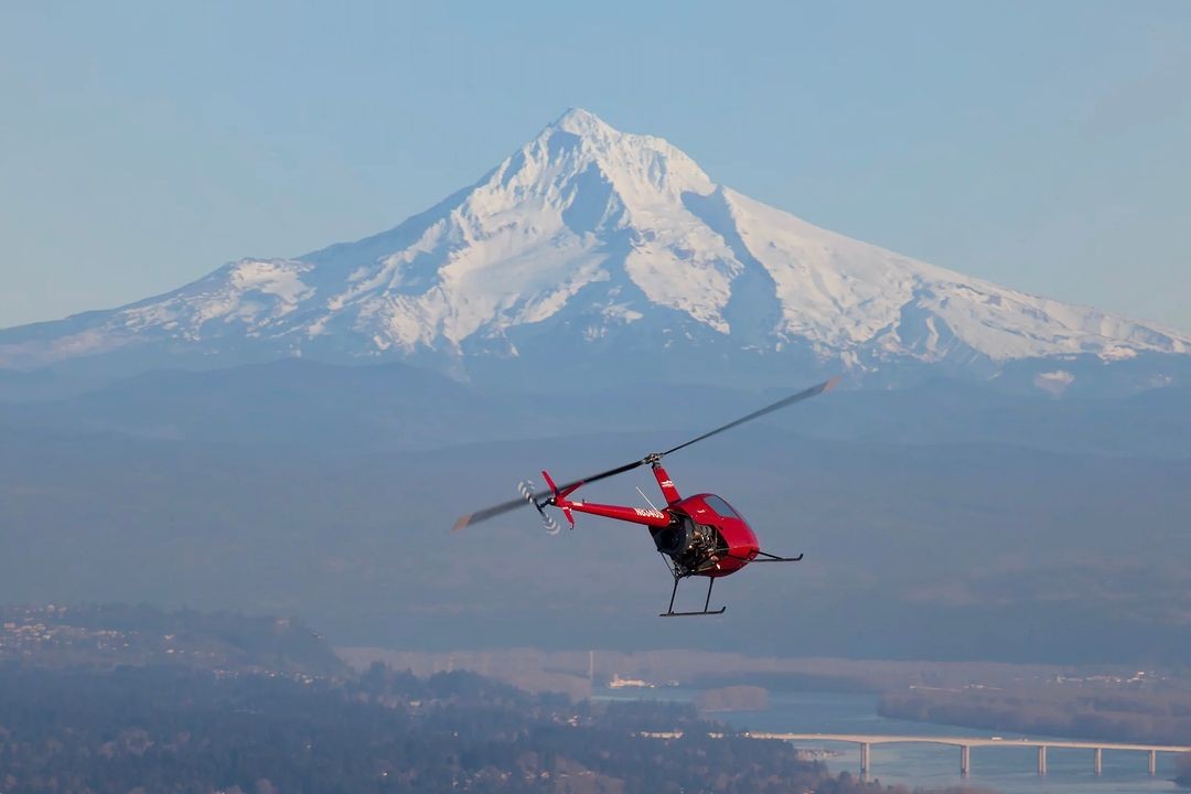
{"label": "hazy blue ridge directly below the snowy mountain's base", "polygon": [[[31,381],[50,393],[23,390],[18,398],[17,383]],[[357,456],[585,433],[674,439],[809,383],[630,389],[584,380],[494,389],[398,363],[283,360],[217,370],[151,370],[99,386],[48,375],[11,379],[10,385],[8,400],[0,392],[0,427]],[[937,379],[905,389],[837,389],[766,421],[847,442],[1191,457],[1191,388],[1181,387],[1055,400]]]}

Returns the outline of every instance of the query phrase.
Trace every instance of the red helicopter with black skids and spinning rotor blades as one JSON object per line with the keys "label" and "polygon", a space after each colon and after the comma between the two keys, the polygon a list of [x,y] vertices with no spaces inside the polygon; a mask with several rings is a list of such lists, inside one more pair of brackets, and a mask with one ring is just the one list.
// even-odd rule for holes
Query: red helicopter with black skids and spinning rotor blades
{"label": "red helicopter with black skids and spinning rotor blades", "polygon": [[[828,392],[835,387],[838,380],[838,377],[833,377],[817,386],[812,386],[809,389],[799,392],[798,394],[793,394],[784,400],[774,402],[773,405],[766,406],[760,411],[754,411],[747,417],[742,417],[735,421],[730,421],[727,425],[717,427],[711,432],[704,433],[698,438],[692,438],[684,444],[668,449],[665,452],[651,452],[640,461],[625,463],[624,465],[618,465],[615,469],[609,469],[607,471],[601,471],[590,477],[574,480],[561,487],[554,483],[554,480],[548,473],[542,471],[542,476],[545,479],[545,484],[549,487],[549,490],[535,492],[532,482],[523,482],[519,486],[522,493],[520,499],[513,499],[501,505],[495,505],[493,507],[470,513],[469,515],[463,515],[455,521],[454,530],[459,531],[470,524],[485,521],[495,515],[500,515],[501,513],[522,507],[526,502],[532,505],[542,515],[542,521],[545,524],[545,529],[550,532],[550,534],[556,534],[560,527],[554,517],[545,512],[547,507],[557,507],[561,509],[563,517],[566,517],[568,524],[570,525],[570,529],[575,527],[574,513],[590,513],[592,515],[615,518],[621,521],[644,524],[649,527],[649,534],[654,539],[654,545],[657,548],[657,552],[662,555],[671,574],[674,576],[674,587],[671,590],[669,607],[667,607],[666,612],[662,612],[660,617],[678,618],[723,614],[724,609],[728,608],[727,606],[719,607],[718,609],[710,608],[711,587],[716,583],[717,579],[721,576],[728,576],[729,574],[735,574],[749,563],[798,562],[803,558],[803,555],[798,555],[797,557],[779,557],[778,555],[761,551],[761,546],[757,543],[756,533],[753,532],[753,527],[750,527],[748,521],[746,521],[744,518],[727,501],[715,494],[696,494],[694,496],[686,498],[679,495],[678,489],[674,487],[674,481],[671,480],[669,475],[666,474],[666,469],[662,468],[661,459],[671,452],[676,452],[680,449],[694,444],[696,442],[711,438],[712,436],[722,433],[725,430],[731,430],[732,427],[742,425],[746,421],[752,421],[757,417],[763,417],[765,414],[779,408],[785,408],[786,406],[802,402],[803,400]],[[653,469],[654,477],[657,479],[657,486],[661,488],[662,496],[666,499],[666,507],[662,507],[661,509],[654,507],[651,502],[648,508],[643,508],[622,507],[619,505],[597,505],[593,502],[572,501],[568,499],[568,496],[578,490],[580,486],[597,482],[599,480],[606,480],[607,477],[613,477],[618,474],[624,474],[625,471],[631,471],[632,469],[647,464]],[[646,501],[648,501],[648,498]],[[707,598],[703,602],[703,609],[694,612],[674,612],[674,596],[678,594],[678,583],[687,576],[707,577]]]}

